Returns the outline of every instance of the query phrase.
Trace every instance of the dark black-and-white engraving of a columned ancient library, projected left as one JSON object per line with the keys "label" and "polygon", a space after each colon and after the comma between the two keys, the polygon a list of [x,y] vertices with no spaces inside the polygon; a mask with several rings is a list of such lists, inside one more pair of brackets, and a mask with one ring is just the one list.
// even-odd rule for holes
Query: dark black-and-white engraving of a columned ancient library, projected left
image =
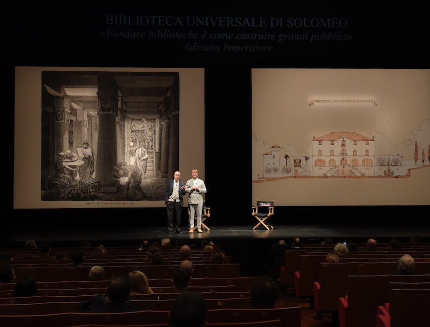
{"label": "dark black-and-white engraving of a columned ancient library, projected left", "polygon": [[41,150],[42,200],[163,200],[179,73],[42,72]]}

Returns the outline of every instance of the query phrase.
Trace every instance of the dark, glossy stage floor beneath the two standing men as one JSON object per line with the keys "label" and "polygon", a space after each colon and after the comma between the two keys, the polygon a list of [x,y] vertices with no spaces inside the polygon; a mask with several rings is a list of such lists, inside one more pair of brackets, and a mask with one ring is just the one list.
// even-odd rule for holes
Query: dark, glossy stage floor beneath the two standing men
{"label": "dark, glossy stage floor beneath the two standing men", "polygon": [[167,228],[146,226],[67,226],[67,227],[43,227],[43,228],[14,228],[6,231],[5,239],[10,242],[20,242],[27,239],[39,241],[78,241],[78,240],[156,240],[169,237],[172,240],[210,238],[210,239],[288,239],[300,237],[302,241],[331,237],[333,239],[355,238],[407,238],[412,235],[430,237],[428,226],[369,226],[369,225],[279,225],[273,230],[253,230],[253,226],[210,226],[211,231],[193,234],[183,228],[183,233],[167,234]]}

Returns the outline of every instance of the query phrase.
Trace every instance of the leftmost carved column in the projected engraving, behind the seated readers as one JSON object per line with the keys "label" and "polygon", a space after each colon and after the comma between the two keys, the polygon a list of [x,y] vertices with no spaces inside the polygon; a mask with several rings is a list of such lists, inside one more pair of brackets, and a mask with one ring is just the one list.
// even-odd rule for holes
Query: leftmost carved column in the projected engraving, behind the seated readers
{"label": "leftmost carved column in the projected engraving, behind the seated readers", "polygon": [[58,153],[69,149],[70,100],[66,97],[54,98],[55,158]]}

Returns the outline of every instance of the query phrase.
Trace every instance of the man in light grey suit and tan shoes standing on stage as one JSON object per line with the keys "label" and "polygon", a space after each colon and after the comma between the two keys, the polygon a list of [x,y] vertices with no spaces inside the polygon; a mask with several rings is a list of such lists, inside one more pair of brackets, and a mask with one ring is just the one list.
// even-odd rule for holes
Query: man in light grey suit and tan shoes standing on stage
{"label": "man in light grey suit and tan shoes standing on stage", "polygon": [[202,232],[202,211],[203,211],[203,195],[206,193],[205,182],[198,178],[199,171],[191,170],[191,176],[185,184],[185,192],[189,193],[188,205],[190,206],[190,233],[194,229],[194,213],[197,216],[197,231]]}

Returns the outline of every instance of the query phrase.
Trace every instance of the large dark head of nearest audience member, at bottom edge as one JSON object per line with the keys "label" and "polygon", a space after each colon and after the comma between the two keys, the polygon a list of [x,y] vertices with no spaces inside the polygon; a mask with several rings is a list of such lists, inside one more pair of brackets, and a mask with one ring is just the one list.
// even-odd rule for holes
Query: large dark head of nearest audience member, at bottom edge
{"label": "large dark head of nearest audience member, at bottom edge", "polygon": [[185,292],[178,296],[169,312],[171,327],[204,327],[208,305],[205,298],[196,292]]}

